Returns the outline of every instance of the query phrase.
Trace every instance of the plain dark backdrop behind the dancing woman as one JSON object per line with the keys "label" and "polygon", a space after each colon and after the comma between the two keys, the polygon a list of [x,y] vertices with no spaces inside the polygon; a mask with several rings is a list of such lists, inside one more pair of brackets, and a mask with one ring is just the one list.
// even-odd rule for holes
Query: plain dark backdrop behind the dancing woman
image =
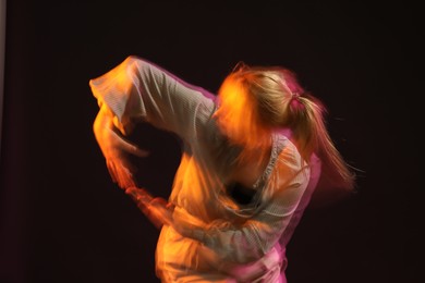
{"label": "plain dark backdrop behind the dancing woman", "polygon": [[[158,282],[158,231],[113,184],[88,81],[130,54],[216,91],[242,60],[286,65],[328,106],[359,194],[306,211],[290,283],[420,282],[418,8],[408,1],[8,1],[0,282]],[[177,140],[139,176],[168,196]],[[137,132],[136,132],[137,134]]]}

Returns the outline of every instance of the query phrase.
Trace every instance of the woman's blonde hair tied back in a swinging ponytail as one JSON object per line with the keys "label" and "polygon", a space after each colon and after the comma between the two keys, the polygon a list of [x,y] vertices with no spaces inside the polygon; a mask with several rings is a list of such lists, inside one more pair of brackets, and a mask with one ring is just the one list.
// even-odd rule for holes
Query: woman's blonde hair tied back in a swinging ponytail
{"label": "woman's blonde hair tied back in a swinging ponytail", "polygon": [[238,84],[250,97],[247,99],[255,101],[251,109],[245,109],[256,120],[250,121],[253,128],[290,128],[292,140],[307,162],[313,153],[317,155],[332,184],[354,188],[355,175],[328,134],[324,118],[327,109],[319,99],[305,91],[295,73],[280,66],[243,65],[229,74],[223,85],[228,82]]}

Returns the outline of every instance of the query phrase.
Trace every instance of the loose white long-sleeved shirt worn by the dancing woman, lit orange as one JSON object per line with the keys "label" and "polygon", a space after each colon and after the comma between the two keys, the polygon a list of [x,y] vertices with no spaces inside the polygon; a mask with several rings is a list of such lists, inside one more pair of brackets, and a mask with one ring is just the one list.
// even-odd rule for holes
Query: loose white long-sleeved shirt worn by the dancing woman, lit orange
{"label": "loose white long-sleeved shirt worn by the dancing woman, lit orange", "polygon": [[90,87],[122,133],[146,121],[184,142],[169,200],[181,219],[186,213],[196,223],[185,236],[162,227],[156,254],[162,282],[243,282],[250,272],[255,276],[246,282],[286,282],[284,247],[316,184],[307,188],[311,170],[295,146],[274,135],[256,201],[241,205],[223,183],[240,148],[227,144],[211,118],[212,94],[137,57],[92,79]]}

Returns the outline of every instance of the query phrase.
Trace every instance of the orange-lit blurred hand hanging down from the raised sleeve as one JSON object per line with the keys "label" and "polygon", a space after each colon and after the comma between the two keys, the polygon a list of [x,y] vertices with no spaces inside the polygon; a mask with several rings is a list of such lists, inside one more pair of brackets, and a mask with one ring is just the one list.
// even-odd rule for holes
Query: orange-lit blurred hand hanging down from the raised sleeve
{"label": "orange-lit blurred hand hanging down from the raised sleeve", "polygon": [[125,140],[117,132],[112,121],[113,114],[104,104],[96,116],[93,131],[106,159],[112,181],[118,183],[122,189],[125,189],[135,185],[133,174],[136,172],[126,153],[146,157],[148,152]]}

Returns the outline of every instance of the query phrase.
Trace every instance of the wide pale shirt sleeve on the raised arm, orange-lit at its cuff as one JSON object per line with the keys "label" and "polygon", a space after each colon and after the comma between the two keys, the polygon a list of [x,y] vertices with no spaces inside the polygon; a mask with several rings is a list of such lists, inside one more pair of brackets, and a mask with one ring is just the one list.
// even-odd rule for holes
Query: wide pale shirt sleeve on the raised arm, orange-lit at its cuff
{"label": "wide pale shirt sleeve on the raised arm, orange-lit at its cuff", "polygon": [[137,121],[144,121],[187,138],[197,111],[214,108],[212,94],[134,56],[90,79],[89,86],[98,104],[108,106],[114,125],[124,135]]}

